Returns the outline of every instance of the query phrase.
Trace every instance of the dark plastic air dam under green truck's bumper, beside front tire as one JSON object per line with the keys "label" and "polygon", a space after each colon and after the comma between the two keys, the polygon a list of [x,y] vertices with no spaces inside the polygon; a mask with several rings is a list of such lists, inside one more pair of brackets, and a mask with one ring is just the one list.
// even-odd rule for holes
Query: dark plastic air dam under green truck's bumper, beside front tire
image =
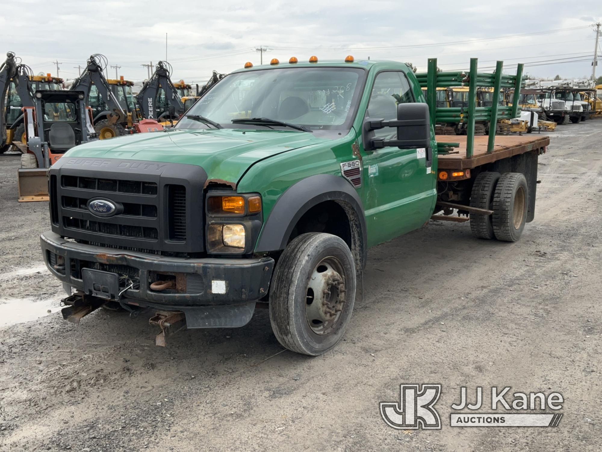
{"label": "dark plastic air dam under green truck's bumper, beside front tire", "polygon": [[188,328],[238,328],[249,323],[255,312],[255,301],[182,309]]}

